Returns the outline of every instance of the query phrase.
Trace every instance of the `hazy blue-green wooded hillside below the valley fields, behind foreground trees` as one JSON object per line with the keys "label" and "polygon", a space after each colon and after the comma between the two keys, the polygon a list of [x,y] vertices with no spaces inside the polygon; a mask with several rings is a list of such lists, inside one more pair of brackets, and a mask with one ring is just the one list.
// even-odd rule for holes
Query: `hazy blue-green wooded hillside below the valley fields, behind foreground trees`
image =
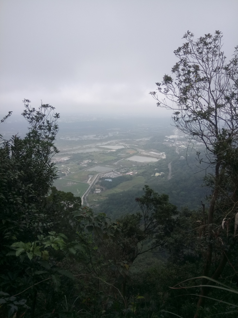
{"label": "hazy blue-green wooded hillside below the valley fields, behind foreground trees", "polygon": [[[202,170],[202,167],[195,159],[195,151],[193,156],[188,157],[186,160],[180,160],[175,151],[167,158],[159,161],[158,163],[151,165],[144,169],[142,172],[138,172],[136,176],[130,176],[130,180],[138,180],[138,177],[143,177],[143,183],[148,184],[153,190],[162,194],[169,195],[170,202],[178,206],[179,209],[187,206],[190,209],[197,209],[201,206],[201,201],[204,201],[206,195],[210,195],[210,189],[205,185],[202,186],[203,178],[206,171]],[[168,180],[168,163],[171,162],[173,177]],[[191,164],[192,168],[189,166]],[[197,166],[196,166],[197,165]],[[156,169],[156,170],[155,170]],[[165,171],[164,175],[156,176],[156,171]],[[207,169],[207,173],[210,169]],[[113,182],[102,181],[99,183],[105,186],[106,189],[116,188],[118,182],[126,182],[123,177],[117,177],[112,179]],[[120,179],[121,178],[121,179]],[[114,181],[116,180],[116,182]],[[122,181],[124,180],[124,181]],[[129,177],[128,177],[129,181]],[[133,189],[124,190],[119,193],[103,192],[102,199],[97,197],[97,201],[89,201],[90,205],[95,212],[105,212],[111,218],[117,218],[124,213],[135,213],[138,211],[138,206],[134,201],[136,196],[142,195],[142,186],[140,183],[134,185]]]}

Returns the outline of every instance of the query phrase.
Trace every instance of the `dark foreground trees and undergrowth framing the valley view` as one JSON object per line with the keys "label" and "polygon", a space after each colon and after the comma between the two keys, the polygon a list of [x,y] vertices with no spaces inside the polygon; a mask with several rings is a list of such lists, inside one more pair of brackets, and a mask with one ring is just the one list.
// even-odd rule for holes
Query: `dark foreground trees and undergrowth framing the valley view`
{"label": "dark foreground trees and undergrowth framing the valley view", "polygon": [[197,159],[214,169],[204,179],[208,209],[177,209],[169,189],[148,185],[131,193],[122,215],[82,207],[53,186],[59,114],[24,100],[28,133],[1,136],[1,317],[236,317],[238,47],[227,63],[220,31],[184,38],[175,79],[165,75],[151,94],[205,145]]}

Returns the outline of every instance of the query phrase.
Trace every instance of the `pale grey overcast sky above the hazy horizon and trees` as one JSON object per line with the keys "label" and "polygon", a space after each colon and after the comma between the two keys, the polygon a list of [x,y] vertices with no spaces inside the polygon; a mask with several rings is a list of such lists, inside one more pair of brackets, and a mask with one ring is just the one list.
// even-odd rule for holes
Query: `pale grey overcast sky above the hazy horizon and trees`
{"label": "pale grey overcast sky above the hazy horizon and trees", "polygon": [[238,0],[0,0],[0,107],[163,115],[148,94],[189,30],[238,45]]}

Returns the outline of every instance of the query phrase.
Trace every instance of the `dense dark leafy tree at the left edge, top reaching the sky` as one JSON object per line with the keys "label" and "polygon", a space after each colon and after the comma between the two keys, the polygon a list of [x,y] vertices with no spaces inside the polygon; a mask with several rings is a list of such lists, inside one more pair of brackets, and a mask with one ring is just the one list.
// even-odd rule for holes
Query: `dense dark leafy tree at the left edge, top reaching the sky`
{"label": "dense dark leafy tree at the left edge, top reaching the sky", "polygon": [[[41,105],[39,110],[30,107],[30,100],[24,100],[24,105],[22,115],[30,124],[25,138],[15,135],[4,140],[1,137],[1,251],[5,239],[32,236],[27,230],[29,224],[39,231],[36,218],[43,223],[47,210],[45,198],[57,178],[51,157],[58,152],[54,140],[59,114],[52,115],[54,107],[48,104]],[[49,215],[47,219],[50,224]]]}

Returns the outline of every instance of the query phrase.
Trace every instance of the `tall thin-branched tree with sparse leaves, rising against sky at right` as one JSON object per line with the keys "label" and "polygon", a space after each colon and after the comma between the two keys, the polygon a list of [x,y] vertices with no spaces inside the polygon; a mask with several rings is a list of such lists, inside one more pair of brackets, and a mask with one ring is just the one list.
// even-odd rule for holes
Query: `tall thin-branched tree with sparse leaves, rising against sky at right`
{"label": "tall thin-branched tree with sparse leaves, rising against sky at right", "polygon": [[[221,238],[222,220],[234,224],[238,209],[238,46],[226,63],[220,31],[215,31],[214,35],[205,34],[197,40],[188,31],[183,38],[186,42],[174,51],[178,58],[172,68],[175,79],[172,75],[164,75],[162,82],[156,83],[157,92],[150,94],[158,101],[158,107],[174,111],[175,127],[191,142],[203,142],[205,157],[197,153],[198,161],[207,162],[214,169],[214,175],[207,179],[213,192],[207,220],[204,218],[202,224],[202,236],[208,242],[203,276],[218,279],[229,251],[236,244],[234,232],[229,232],[225,241],[220,240],[220,262],[210,273],[214,245],[218,237]],[[207,280],[203,279],[202,285],[206,284]],[[201,287],[198,308],[204,306],[204,296],[208,292],[208,287]]]}

